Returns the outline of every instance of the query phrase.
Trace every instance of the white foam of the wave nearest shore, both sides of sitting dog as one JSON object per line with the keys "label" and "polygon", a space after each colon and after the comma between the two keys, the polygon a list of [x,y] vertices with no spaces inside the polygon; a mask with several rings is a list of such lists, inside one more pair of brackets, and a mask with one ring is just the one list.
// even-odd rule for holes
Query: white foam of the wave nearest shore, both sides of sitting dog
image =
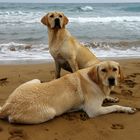
{"label": "white foam of the wave nearest shore, both sides of sitting dog", "polygon": [[[97,44],[98,45],[98,44]],[[29,48],[26,48],[29,46]],[[11,49],[12,48],[12,49]],[[90,50],[97,57],[139,57],[140,47],[130,47],[127,49],[115,48],[110,46],[98,45],[96,48],[90,47]],[[2,61],[34,61],[34,60],[53,60],[49,53],[48,45],[30,45],[10,42],[0,44],[0,63]]]}

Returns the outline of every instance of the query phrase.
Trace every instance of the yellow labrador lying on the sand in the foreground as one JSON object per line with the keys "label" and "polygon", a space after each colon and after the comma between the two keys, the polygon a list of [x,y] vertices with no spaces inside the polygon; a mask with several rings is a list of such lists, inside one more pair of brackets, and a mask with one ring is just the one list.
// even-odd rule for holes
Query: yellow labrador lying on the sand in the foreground
{"label": "yellow labrador lying on the sand in the foreground", "polygon": [[135,113],[119,105],[102,106],[122,79],[117,62],[104,61],[51,82],[35,79],[20,85],[0,108],[0,118],[10,123],[38,124],[70,110],[84,110],[92,118],[112,112]]}

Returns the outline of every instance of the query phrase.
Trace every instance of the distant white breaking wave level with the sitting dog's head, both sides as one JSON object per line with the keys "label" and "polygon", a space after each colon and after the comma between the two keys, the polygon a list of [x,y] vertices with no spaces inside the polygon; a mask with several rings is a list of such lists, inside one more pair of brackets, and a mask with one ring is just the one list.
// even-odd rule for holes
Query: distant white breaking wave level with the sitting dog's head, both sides
{"label": "distant white breaking wave level with the sitting dog's head, both sides", "polygon": [[[0,16],[1,17],[1,16]],[[28,17],[2,17],[0,20],[0,24],[32,24],[32,23],[40,23],[41,16],[28,16]],[[116,16],[116,17],[70,17],[69,21],[71,23],[110,23],[110,22],[140,22],[140,16]]]}

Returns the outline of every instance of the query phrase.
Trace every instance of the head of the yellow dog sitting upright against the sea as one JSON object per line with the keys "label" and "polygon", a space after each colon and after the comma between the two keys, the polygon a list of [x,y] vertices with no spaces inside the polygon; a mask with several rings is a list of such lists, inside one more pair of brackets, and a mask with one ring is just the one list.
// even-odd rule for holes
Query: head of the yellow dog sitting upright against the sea
{"label": "head of the yellow dog sitting upright against the sea", "polygon": [[49,12],[41,19],[41,22],[51,29],[64,28],[68,21],[68,18],[62,12]]}

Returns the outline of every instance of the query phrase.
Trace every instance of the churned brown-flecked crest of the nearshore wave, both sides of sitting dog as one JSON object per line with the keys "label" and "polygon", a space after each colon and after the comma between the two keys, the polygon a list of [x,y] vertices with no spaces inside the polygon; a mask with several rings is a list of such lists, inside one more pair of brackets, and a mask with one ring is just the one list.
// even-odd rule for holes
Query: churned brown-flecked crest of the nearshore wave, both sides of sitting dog
{"label": "churned brown-flecked crest of the nearshore wave, both sides of sitting dog", "polygon": [[[132,47],[140,47],[140,41],[114,41],[114,42],[83,42],[86,47],[100,48],[100,49],[131,49]],[[12,49],[11,49],[12,48]],[[14,49],[13,49],[14,48]],[[46,44],[23,44],[16,42],[9,42],[0,44],[0,51],[20,51],[20,50],[48,50]]]}

